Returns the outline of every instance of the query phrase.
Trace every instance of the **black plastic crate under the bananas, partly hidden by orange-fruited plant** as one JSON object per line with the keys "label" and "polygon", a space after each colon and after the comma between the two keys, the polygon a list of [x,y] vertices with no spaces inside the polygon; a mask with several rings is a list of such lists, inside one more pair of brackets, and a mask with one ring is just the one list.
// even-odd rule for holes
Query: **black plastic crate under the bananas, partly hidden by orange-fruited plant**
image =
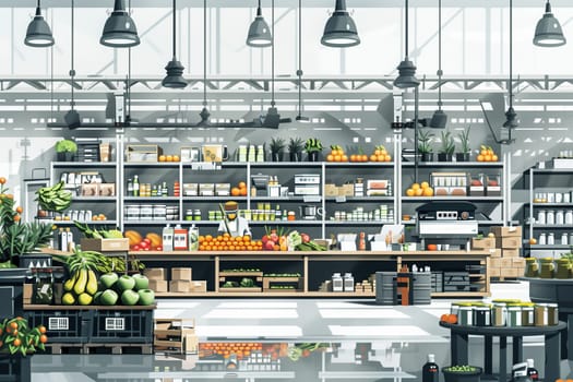
{"label": "black plastic crate under the bananas, partly hidden by orange-fruited plant", "polygon": [[92,327],[92,311],[34,310],[25,315],[31,326],[44,325],[53,343],[87,343]]}

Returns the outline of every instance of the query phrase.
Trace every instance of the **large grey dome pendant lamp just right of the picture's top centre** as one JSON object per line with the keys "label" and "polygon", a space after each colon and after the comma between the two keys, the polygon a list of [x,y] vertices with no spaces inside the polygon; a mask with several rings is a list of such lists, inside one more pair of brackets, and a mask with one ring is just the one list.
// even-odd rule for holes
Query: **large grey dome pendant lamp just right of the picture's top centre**
{"label": "large grey dome pendant lamp just right of the picture's top centre", "polygon": [[346,10],[346,0],[336,0],[334,13],[326,21],[320,41],[333,48],[347,48],[360,44],[356,24]]}

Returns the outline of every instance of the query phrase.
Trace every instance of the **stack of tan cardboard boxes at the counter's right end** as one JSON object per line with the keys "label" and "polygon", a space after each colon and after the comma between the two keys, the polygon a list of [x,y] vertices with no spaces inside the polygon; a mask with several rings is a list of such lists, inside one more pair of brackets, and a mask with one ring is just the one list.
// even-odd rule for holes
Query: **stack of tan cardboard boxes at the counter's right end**
{"label": "stack of tan cardboard boxes at the counter's right end", "polygon": [[491,227],[491,232],[496,235],[496,256],[490,259],[490,277],[522,276],[525,271],[525,259],[520,256],[522,227]]}

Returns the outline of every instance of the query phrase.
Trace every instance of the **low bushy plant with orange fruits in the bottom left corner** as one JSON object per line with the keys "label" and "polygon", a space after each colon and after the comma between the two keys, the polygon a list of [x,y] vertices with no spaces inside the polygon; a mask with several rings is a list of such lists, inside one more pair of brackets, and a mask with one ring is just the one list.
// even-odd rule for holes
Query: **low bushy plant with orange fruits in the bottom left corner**
{"label": "low bushy plant with orange fruits in the bottom left corner", "polygon": [[16,317],[4,319],[0,323],[0,351],[16,353],[26,356],[37,349],[45,350],[44,344],[48,342],[46,326],[29,327],[26,319]]}

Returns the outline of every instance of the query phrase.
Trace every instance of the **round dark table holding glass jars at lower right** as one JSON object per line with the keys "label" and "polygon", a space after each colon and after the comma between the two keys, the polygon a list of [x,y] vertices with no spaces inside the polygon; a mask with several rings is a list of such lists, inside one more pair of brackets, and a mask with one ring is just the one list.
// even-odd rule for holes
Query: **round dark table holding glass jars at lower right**
{"label": "round dark table holding glass jars at lower right", "polygon": [[552,326],[473,326],[440,322],[440,326],[450,329],[452,365],[468,365],[468,336],[482,335],[484,372],[491,374],[493,337],[500,337],[500,378],[499,381],[511,380],[508,375],[508,337],[513,337],[513,363],[523,361],[523,337],[532,335],[545,336],[545,381],[556,381],[560,378],[560,345],[559,333],[566,327],[564,322]]}

